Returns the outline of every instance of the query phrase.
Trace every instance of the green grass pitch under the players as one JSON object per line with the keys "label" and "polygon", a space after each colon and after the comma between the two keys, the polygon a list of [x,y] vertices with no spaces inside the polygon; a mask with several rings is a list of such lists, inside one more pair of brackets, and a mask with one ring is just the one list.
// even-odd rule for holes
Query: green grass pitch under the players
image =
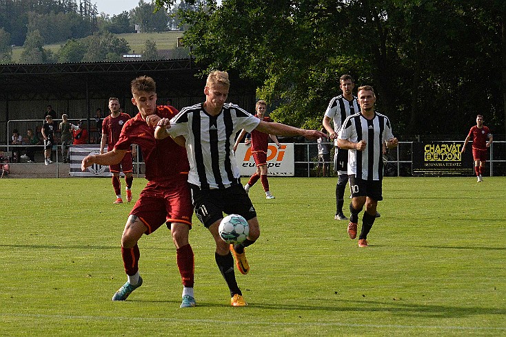
{"label": "green grass pitch under the players", "polygon": [[[250,274],[236,271],[249,306],[230,307],[194,217],[197,307],[180,309],[165,227],[139,241],[143,286],[111,301],[133,204],[112,204],[110,179],[3,179],[0,335],[504,336],[506,177],[484,180],[385,178],[368,248],[334,220],[336,178],[271,178],[273,200],[259,183],[261,237]],[[144,185],[134,180],[134,200]]]}

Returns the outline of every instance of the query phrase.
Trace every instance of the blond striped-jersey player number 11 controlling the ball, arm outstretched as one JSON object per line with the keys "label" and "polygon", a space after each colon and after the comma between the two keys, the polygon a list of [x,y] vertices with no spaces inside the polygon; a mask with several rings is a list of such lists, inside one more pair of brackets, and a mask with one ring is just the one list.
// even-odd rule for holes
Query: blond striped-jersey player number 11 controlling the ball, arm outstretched
{"label": "blond striped-jersey player number 11 controlling the ball, arm outstretched", "polygon": [[[259,238],[260,226],[250,197],[241,185],[241,173],[233,151],[235,135],[241,129],[274,135],[302,135],[312,140],[326,135],[316,130],[260,120],[237,105],[225,103],[229,89],[227,72],[214,70],[205,84],[205,102],[183,108],[172,120],[162,118],[155,137],[184,138],[190,161],[188,182],[196,216],[210,230],[216,243],[214,258],[229,287],[230,304],[244,307],[247,303],[236,282],[234,257],[239,271],[247,274],[250,266],[245,247]],[[221,239],[218,227],[223,213],[245,217],[250,225],[250,235],[243,243],[228,245]]]}

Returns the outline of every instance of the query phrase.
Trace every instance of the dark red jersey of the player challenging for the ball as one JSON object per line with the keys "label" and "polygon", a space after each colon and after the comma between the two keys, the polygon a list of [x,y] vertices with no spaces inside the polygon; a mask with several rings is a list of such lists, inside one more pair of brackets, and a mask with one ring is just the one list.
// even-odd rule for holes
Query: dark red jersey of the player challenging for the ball
{"label": "dark red jersey of the player challenging for the ball", "polygon": [[[156,107],[156,115],[160,118],[170,119],[178,112],[174,107],[165,105]],[[114,148],[128,151],[130,145],[138,144],[144,158],[147,180],[188,180],[190,164],[188,164],[186,149],[176,144],[171,137],[156,140],[154,129],[146,124],[141,113],[137,113],[134,118],[125,123]]]}

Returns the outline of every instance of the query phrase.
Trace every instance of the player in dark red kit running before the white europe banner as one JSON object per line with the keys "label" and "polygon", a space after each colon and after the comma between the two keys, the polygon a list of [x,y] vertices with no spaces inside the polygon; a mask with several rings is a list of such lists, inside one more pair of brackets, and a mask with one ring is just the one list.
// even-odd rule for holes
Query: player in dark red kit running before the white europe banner
{"label": "player in dark red kit running before the white europe banner", "polygon": [[[265,122],[272,122],[270,117],[264,116],[266,109],[267,103],[264,100],[259,100],[256,102],[255,116],[260,120],[264,120]],[[236,151],[239,142],[243,140],[243,137],[246,133],[247,131],[245,129],[241,131],[234,145],[234,151]],[[274,199],[274,195],[270,193],[269,181],[267,180],[267,149],[269,147],[269,138],[274,140],[278,148],[281,146],[278,142],[278,138],[276,138],[276,135],[269,135],[257,130],[253,130],[251,132],[251,152],[255,160],[256,172],[253,173],[253,175],[250,177],[250,181],[244,185],[244,189],[246,192],[250,191],[250,188],[260,179],[262,182],[263,191],[265,191],[265,198]]]}

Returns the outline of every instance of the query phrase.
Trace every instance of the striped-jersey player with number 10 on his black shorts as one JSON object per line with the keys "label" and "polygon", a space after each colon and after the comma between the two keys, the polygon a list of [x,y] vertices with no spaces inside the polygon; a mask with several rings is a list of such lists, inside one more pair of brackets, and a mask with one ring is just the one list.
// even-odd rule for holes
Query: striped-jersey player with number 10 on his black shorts
{"label": "striped-jersey player with number 10 on his black shorts", "polygon": [[398,144],[388,117],[374,111],[374,102],[374,89],[370,85],[359,87],[358,104],[361,111],[348,116],[338,133],[338,146],[349,150],[347,173],[352,203],[347,231],[351,239],[356,237],[358,213],[365,205],[358,247],[368,246],[367,234],[376,219],[378,202],[383,200],[383,143],[388,149]]}

